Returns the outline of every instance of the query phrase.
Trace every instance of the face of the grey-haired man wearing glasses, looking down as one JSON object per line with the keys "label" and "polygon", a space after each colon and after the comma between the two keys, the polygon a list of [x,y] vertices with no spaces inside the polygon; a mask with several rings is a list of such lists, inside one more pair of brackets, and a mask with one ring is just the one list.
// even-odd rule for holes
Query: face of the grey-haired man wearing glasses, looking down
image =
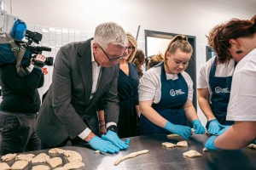
{"label": "face of the grey-haired man wearing glasses, looking down", "polygon": [[108,44],[107,48],[102,48],[96,42],[93,43],[92,48],[96,62],[102,67],[111,67],[118,64],[125,51],[125,47],[119,45]]}

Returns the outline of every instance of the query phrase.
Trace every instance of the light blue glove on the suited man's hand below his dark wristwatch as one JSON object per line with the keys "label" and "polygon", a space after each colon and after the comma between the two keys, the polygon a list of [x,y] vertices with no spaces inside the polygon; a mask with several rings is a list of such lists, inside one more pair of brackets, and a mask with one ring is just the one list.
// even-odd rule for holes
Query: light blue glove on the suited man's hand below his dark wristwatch
{"label": "light blue glove on the suited man's hand below his dark wristwatch", "polygon": [[119,139],[117,133],[114,133],[111,130],[108,130],[106,134],[102,134],[102,139],[108,140],[112,142],[115,146],[117,146],[120,150],[126,150],[129,147],[130,139],[123,140]]}

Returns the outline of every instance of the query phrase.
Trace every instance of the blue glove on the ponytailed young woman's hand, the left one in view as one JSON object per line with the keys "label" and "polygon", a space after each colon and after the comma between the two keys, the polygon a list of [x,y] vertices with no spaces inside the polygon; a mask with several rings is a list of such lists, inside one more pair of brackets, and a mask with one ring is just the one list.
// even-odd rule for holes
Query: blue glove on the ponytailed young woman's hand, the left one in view
{"label": "blue glove on the ponytailed young woman's hand, the left one in view", "polygon": [[182,125],[174,125],[172,122],[166,122],[166,130],[178,134],[183,137],[183,139],[189,139],[192,131],[190,127],[182,126]]}

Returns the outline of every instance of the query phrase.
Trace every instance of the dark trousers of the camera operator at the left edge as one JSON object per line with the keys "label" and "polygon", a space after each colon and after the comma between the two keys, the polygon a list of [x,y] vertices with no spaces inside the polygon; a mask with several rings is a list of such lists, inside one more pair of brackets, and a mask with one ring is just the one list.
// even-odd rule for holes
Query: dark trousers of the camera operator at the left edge
{"label": "dark trousers of the camera operator at the left edge", "polygon": [[0,155],[40,150],[41,140],[34,131],[36,113],[0,111]]}

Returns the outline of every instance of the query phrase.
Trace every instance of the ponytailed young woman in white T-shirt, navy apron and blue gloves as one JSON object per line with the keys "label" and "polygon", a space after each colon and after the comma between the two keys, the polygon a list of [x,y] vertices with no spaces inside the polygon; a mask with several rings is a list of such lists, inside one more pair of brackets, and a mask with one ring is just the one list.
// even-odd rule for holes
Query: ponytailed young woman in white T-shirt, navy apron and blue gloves
{"label": "ponytailed young woman in white T-shirt, navy apron and blue gloves", "polygon": [[[177,133],[183,139],[188,139],[191,128],[187,126],[186,119],[192,122],[196,134],[205,133],[192,99],[188,99],[191,91],[189,92],[187,81],[189,79],[192,82],[191,78],[186,72],[181,73],[186,68],[192,52],[193,48],[187,37],[181,35],[173,37],[167,47],[164,62],[146,71],[141,78],[139,85],[139,105],[142,111],[139,124],[140,135]],[[159,87],[160,94],[157,94]],[[154,98],[158,95],[160,99],[155,102]]]}

